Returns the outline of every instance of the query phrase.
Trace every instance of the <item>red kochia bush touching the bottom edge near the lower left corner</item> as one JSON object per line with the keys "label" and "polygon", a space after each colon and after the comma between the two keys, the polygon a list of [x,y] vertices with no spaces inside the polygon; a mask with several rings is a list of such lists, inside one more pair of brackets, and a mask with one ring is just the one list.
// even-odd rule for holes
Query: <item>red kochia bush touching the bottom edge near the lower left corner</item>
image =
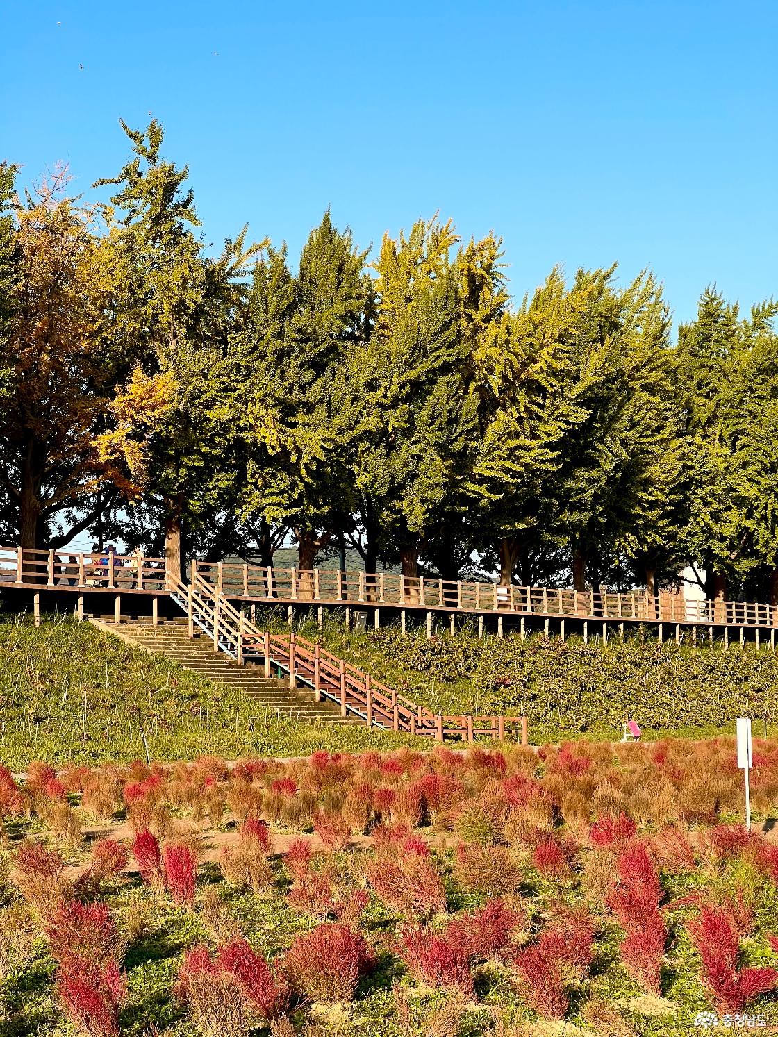
{"label": "red kochia bush touching the bottom edge near the lower left corner", "polygon": [[87,1037],[118,1037],[127,982],[115,961],[71,959],[57,972],[56,990],[67,1018]]}

